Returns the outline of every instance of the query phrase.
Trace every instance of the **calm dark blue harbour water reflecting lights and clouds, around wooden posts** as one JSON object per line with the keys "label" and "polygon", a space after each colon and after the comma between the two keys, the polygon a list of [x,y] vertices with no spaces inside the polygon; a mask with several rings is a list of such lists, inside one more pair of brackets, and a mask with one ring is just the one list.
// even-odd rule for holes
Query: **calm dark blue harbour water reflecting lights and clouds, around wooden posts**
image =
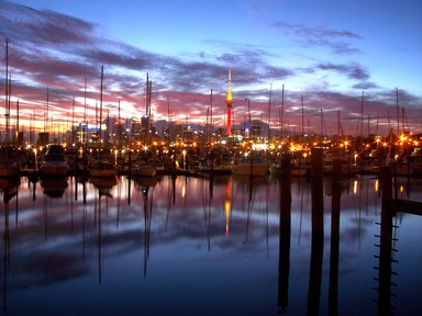
{"label": "calm dark blue harbour water reflecting lights and clouds, around wooden posts", "polygon": [[[271,177],[1,184],[3,315],[421,313],[418,215],[392,218],[397,262],[382,289],[393,296],[377,303],[386,275],[374,179],[342,184],[338,238],[329,179],[316,225],[309,180],[293,180],[290,206]],[[422,179],[399,184],[400,198],[422,201]]]}

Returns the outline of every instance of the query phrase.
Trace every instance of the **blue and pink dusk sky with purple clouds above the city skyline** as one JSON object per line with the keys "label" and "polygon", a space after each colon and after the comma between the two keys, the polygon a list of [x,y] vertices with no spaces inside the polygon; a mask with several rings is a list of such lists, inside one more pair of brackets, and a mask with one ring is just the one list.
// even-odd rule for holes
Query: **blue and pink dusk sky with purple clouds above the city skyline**
{"label": "blue and pink dusk sky with purple clouds above the city skyline", "polygon": [[145,114],[148,74],[154,120],[203,125],[212,110],[224,128],[231,70],[234,125],[249,109],[293,132],[417,134],[421,16],[419,0],[0,0],[0,89],[8,38],[22,124],[66,128],[87,104],[96,125],[103,66],[103,117]]}

